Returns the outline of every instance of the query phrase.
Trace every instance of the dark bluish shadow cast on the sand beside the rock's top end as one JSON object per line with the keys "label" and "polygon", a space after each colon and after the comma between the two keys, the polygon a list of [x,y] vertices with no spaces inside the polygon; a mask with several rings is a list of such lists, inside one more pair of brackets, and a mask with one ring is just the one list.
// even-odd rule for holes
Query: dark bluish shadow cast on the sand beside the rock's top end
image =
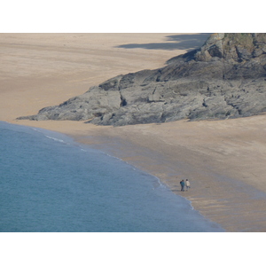
{"label": "dark bluish shadow cast on the sand beside the rock's top end", "polygon": [[124,49],[151,49],[151,50],[187,50],[192,51],[203,45],[209,33],[201,33],[198,35],[168,35],[168,43],[129,43],[115,46]]}

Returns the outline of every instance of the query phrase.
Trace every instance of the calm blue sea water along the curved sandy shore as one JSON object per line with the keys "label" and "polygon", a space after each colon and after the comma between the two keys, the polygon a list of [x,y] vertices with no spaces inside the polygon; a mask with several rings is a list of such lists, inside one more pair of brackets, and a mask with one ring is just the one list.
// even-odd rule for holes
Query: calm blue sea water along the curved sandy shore
{"label": "calm blue sea water along the curved sandy shore", "polygon": [[223,231],[155,176],[44,129],[0,121],[0,231]]}

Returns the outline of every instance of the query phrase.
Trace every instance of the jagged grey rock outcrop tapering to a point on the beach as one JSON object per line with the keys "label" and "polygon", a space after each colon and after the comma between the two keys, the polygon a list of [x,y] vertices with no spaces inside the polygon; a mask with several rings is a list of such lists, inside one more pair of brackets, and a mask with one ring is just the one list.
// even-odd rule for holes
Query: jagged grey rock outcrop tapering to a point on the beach
{"label": "jagged grey rock outcrop tapering to a point on the beach", "polygon": [[168,66],[119,75],[30,120],[98,125],[206,120],[266,112],[266,34],[215,34]]}

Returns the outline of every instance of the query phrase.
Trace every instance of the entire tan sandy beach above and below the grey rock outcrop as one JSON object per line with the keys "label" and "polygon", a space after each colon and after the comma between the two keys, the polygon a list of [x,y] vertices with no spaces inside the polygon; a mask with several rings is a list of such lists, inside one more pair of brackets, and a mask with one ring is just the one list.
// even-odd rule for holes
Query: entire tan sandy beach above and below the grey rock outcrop
{"label": "entire tan sandy beach above and below the grey rock outcrop", "polygon": [[[16,121],[117,74],[153,69],[204,43],[196,34],[1,34],[0,120],[51,129],[129,161],[226,231],[266,231],[266,116],[99,127]],[[120,46],[120,47],[119,47]],[[180,192],[188,178],[192,189]]]}

